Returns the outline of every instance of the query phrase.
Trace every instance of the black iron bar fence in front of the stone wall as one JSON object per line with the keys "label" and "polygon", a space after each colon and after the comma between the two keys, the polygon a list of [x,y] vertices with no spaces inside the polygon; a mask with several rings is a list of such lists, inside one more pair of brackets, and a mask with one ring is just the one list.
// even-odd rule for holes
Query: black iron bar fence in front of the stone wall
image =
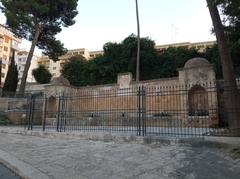
{"label": "black iron bar fence in front of the stone wall", "polygon": [[[31,95],[29,130],[171,137],[230,136],[223,88],[216,83],[79,90]],[[232,112],[240,111],[233,106]]]}

